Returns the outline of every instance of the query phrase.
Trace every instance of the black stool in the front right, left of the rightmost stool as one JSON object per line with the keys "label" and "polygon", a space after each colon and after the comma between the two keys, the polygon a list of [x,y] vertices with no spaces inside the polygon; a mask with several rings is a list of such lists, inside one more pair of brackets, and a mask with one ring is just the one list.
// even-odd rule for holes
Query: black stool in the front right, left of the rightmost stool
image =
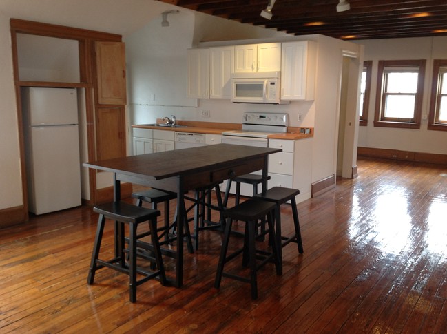
{"label": "black stool in the front right, left of the rightmost stool", "polygon": [[[233,278],[233,280],[240,280],[242,282],[250,283],[251,285],[251,298],[258,298],[258,283],[256,278],[256,273],[258,269],[264,266],[269,261],[273,261],[276,267],[276,274],[281,275],[280,259],[278,258],[278,247],[274,240],[273,229],[273,211],[276,205],[271,202],[266,202],[262,200],[249,199],[242,202],[236,207],[232,207],[226,211],[223,211],[222,215],[227,218],[225,225],[224,240],[222,242],[222,249],[220,251],[220,258],[218,263],[218,269],[216,273],[216,280],[214,281],[214,286],[216,289],[220,287],[220,281],[222,276],[227,278]],[[256,249],[256,225],[258,220],[265,218],[267,216],[267,223],[269,225],[269,233],[271,233],[271,253],[267,251],[261,251]],[[229,238],[231,236],[231,225],[233,220],[240,220],[245,222],[245,236],[244,236],[244,246],[242,249],[234,251],[227,256],[227,249],[229,244]],[[242,255],[242,265],[247,266],[249,264],[250,277],[245,278],[240,275],[233,273],[224,272],[224,266],[227,262],[236,258],[237,255],[243,253]],[[256,260],[261,260],[257,263]]]}

